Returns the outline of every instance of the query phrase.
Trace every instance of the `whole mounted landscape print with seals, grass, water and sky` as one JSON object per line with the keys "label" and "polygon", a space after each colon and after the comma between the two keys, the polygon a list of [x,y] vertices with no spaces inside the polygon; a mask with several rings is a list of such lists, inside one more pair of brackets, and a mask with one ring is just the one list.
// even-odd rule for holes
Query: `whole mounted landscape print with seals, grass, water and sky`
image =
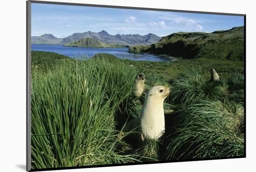
{"label": "whole mounted landscape print with seals, grass, water and sky", "polygon": [[27,5],[28,170],[245,157],[245,15]]}

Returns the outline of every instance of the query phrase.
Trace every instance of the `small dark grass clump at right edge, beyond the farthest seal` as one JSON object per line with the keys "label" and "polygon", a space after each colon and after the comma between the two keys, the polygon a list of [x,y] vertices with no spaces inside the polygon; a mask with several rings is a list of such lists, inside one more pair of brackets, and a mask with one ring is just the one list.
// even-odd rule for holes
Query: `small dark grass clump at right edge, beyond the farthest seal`
{"label": "small dark grass clump at right edge, beyond the farthest seal", "polygon": [[244,89],[244,76],[242,73],[237,71],[232,73],[228,79],[230,90],[241,90]]}

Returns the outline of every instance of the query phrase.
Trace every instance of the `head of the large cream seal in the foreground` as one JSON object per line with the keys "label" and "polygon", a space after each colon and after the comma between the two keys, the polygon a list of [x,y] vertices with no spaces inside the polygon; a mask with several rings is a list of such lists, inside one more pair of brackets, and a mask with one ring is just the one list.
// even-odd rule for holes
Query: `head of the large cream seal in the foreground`
{"label": "head of the large cream seal in the foreground", "polygon": [[148,99],[160,99],[164,100],[168,94],[170,93],[170,89],[166,86],[153,86],[147,93]]}

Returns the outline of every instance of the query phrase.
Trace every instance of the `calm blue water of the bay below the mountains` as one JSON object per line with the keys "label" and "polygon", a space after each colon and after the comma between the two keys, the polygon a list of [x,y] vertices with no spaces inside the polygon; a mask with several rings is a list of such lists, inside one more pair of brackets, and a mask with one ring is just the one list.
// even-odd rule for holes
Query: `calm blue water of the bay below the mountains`
{"label": "calm blue water of the bay below the mountains", "polygon": [[32,44],[32,50],[60,53],[71,58],[81,58],[82,55],[92,57],[97,53],[113,54],[120,59],[128,60],[147,60],[147,61],[172,61],[163,59],[160,55],[148,53],[128,53],[128,48],[79,48],[61,45],[38,45]]}

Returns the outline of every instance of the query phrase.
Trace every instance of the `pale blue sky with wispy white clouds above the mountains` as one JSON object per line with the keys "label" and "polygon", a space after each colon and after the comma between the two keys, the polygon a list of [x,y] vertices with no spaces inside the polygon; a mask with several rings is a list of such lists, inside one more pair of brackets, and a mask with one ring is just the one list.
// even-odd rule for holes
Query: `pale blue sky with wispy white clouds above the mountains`
{"label": "pale blue sky with wispy white clouds above the mountains", "polygon": [[57,38],[87,31],[109,34],[154,33],[165,36],[175,32],[213,32],[243,26],[241,16],[176,13],[149,10],[81,7],[54,4],[31,6],[32,36],[51,33]]}

